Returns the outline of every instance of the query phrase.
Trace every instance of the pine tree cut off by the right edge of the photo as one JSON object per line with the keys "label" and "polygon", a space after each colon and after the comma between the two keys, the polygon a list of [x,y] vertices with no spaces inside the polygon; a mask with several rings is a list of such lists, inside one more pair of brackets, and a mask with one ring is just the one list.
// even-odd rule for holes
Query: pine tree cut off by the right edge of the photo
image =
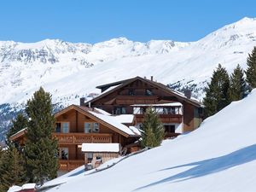
{"label": "pine tree cut off by the right edge of the photo", "polygon": [[251,89],[256,88],[256,47],[253,48],[251,54],[248,54],[246,75]]}

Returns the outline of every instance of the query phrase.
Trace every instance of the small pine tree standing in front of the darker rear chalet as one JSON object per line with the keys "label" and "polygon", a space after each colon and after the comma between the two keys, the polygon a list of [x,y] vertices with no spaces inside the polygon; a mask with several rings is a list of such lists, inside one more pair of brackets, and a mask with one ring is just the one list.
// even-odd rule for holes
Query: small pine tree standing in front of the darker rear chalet
{"label": "small pine tree standing in front of the darker rear chalet", "polygon": [[156,112],[152,108],[146,110],[143,121],[143,147],[157,147],[164,139],[165,131]]}

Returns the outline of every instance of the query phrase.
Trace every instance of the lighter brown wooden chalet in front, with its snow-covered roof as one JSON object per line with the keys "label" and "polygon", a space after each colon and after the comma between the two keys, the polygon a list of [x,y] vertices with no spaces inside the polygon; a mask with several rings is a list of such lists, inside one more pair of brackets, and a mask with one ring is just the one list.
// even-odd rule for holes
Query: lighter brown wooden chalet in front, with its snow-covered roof
{"label": "lighter brown wooden chalet in front, with its snow-covered roof", "polygon": [[[131,144],[140,137],[137,128],[131,126],[133,124],[133,115],[113,117],[101,109],[76,105],[55,113],[53,137],[58,140],[59,171],[68,172],[84,165],[83,143],[118,143],[121,153],[129,153],[133,150]],[[10,140],[26,144],[25,136],[26,129],[23,129],[10,137]],[[116,154],[97,154],[97,158],[102,160],[113,156]]]}

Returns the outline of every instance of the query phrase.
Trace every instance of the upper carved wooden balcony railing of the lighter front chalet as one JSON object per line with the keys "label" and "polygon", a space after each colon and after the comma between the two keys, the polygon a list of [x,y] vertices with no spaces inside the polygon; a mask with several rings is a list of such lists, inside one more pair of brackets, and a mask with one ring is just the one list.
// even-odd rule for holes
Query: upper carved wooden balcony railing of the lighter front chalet
{"label": "upper carved wooden balcony railing of the lighter front chalet", "polygon": [[112,143],[112,134],[105,133],[53,133],[59,144]]}

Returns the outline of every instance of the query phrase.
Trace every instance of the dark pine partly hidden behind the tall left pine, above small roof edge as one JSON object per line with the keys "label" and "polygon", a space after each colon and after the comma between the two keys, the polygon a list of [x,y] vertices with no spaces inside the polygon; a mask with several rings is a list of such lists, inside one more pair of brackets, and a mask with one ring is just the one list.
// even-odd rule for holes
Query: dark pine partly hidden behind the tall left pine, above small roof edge
{"label": "dark pine partly hidden behind the tall left pine, above small roof edge", "polygon": [[[13,125],[12,127],[9,129],[6,137],[7,137],[7,143],[9,143],[9,137],[11,137],[12,135],[14,135],[16,132],[26,128],[27,126],[27,119],[24,116],[23,113],[19,113],[16,117],[16,119],[14,119],[13,121]],[[17,146],[16,146],[17,147]]]}

